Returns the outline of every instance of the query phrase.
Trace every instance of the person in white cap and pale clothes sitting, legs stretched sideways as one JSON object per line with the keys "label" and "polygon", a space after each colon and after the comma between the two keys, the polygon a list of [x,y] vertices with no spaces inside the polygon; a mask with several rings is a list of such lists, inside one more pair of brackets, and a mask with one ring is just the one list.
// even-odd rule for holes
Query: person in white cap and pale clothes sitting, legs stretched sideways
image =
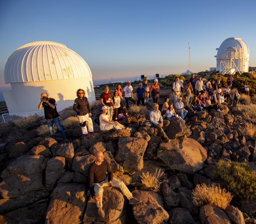
{"label": "person in white cap and pale clothes sitting, legs stretched sideways", "polygon": [[121,130],[121,129],[127,129],[131,130],[131,128],[125,128],[125,126],[121,125],[117,121],[111,120],[109,115],[107,114],[107,107],[103,106],[102,108],[102,114],[99,116],[99,123],[100,123],[100,128],[103,131],[106,130]]}

